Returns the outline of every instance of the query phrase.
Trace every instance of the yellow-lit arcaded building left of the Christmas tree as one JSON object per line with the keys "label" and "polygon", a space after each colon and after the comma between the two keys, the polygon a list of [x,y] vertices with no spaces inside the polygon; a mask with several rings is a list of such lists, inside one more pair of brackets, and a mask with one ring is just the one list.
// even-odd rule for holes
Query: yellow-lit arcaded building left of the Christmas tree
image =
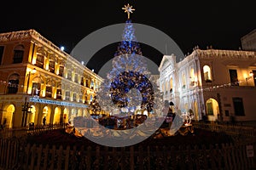
{"label": "yellow-lit arcaded building left of the Christmas tree", "polygon": [[73,122],[90,114],[102,78],[37,31],[0,34],[0,123]]}

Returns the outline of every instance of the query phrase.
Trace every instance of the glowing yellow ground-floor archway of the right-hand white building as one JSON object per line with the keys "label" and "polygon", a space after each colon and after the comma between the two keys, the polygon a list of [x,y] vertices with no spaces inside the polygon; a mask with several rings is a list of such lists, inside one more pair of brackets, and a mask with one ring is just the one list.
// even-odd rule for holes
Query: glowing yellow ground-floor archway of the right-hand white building
{"label": "glowing yellow ground-floor archway of the right-hand white building", "polygon": [[218,101],[216,99],[207,99],[207,116],[209,121],[216,121],[218,118]]}

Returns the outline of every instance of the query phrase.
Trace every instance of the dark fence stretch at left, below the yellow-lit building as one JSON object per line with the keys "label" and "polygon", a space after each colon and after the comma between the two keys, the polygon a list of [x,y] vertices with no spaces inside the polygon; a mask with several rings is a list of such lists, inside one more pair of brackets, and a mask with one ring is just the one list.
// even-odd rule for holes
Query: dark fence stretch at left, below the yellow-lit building
{"label": "dark fence stretch at left, below the yellow-lit building", "polygon": [[64,128],[64,124],[49,124],[47,126],[34,126],[34,127],[16,127],[16,128],[4,128],[0,130],[0,135],[3,138],[20,138],[27,133],[30,134],[39,134],[39,133],[44,133],[49,130],[55,130],[55,129],[61,129]]}

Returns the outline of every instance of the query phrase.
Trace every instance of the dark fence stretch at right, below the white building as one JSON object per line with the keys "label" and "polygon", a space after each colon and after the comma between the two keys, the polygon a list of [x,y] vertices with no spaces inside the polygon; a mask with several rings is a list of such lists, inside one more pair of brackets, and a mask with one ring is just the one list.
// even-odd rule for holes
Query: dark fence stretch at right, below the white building
{"label": "dark fence stretch at right, below the white building", "polygon": [[218,133],[227,133],[230,135],[241,135],[245,137],[256,137],[256,129],[254,127],[246,127],[241,125],[226,125],[218,123],[194,122],[196,128],[206,129]]}

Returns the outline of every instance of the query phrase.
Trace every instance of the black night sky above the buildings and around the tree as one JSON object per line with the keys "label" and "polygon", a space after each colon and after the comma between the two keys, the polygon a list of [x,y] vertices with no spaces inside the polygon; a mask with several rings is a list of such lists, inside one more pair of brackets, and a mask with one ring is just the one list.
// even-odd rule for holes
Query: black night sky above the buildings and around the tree
{"label": "black night sky above the buildings and around the tree", "polygon": [[[42,36],[64,46],[69,54],[84,37],[104,26],[124,23],[121,9],[130,3],[136,11],[134,23],[154,26],[177,42],[184,54],[198,45],[206,49],[238,49],[241,37],[256,28],[255,4],[247,0],[216,1],[3,1],[0,32],[35,29]],[[96,71],[113,57],[117,44],[98,51],[87,65]],[[162,58],[154,48],[142,44],[143,55],[159,65]],[[97,65],[96,65],[97,63]]]}

